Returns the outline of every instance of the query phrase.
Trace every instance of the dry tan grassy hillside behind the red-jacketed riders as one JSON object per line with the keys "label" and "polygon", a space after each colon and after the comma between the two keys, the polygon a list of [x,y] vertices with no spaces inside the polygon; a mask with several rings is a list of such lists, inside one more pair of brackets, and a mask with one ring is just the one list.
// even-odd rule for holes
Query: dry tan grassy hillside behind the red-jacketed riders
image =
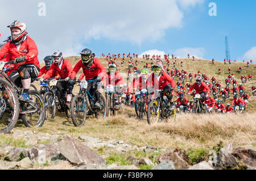
{"label": "dry tan grassy hillside behind the red-jacketed riders", "polygon": [[[71,57],[65,57],[67,60],[69,60],[72,64],[72,66],[74,67],[78,61],[81,60],[80,56],[71,56]],[[105,66],[106,71],[108,71],[108,61],[106,60],[105,57],[97,57],[102,64]],[[127,77],[127,71],[128,71],[128,65],[127,62],[130,60],[130,58],[125,58],[125,64],[123,67],[121,67],[121,62],[122,62],[122,58],[117,58],[117,60],[115,61],[116,64],[118,65],[118,72],[122,74],[122,76],[124,78]],[[133,62],[135,64],[135,60],[136,58],[133,58]],[[143,66],[148,63],[150,64],[150,60],[146,60],[143,58],[137,58],[138,60],[138,66],[137,68],[139,70],[142,70]],[[180,61],[183,61],[183,67],[181,68],[180,66]],[[163,63],[165,66],[167,66],[166,61],[164,59],[162,59]],[[173,61],[170,59],[170,68],[172,68],[173,66]],[[154,60],[154,64],[156,64],[156,60]],[[42,66],[44,66],[42,64]],[[241,66],[242,68],[242,73],[240,74],[238,69]],[[249,105],[247,107],[247,112],[255,112],[255,108],[256,108],[256,97],[253,97],[252,92],[250,91],[251,86],[256,85],[256,65],[255,64],[250,64],[250,67],[247,68],[246,62],[232,62],[231,65],[226,64],[224,65],[224,62],[218,62],[215,61],[214,65],[212,64],[212,61],[210,60],[204,60],[204,59],[195,59],[195,61],[192,61],[192,59],[188,59],[188,58],[177,58],[177,62],[176,62],[176,68],[179,69],[180,71],[182,69],[186,70],[189,73],[192,73],[193,75],[195,73],[197,73],[198,70],[201,71],[201,73],[205,73],[209,79],[211,79],[213,76],[217,79],[217,81],[219,81],[221,83],[221,87],[225,87],[225,79],[228,77],[229,73],[228,73],[228,69],[231,68],[232,69],[232,73],[235,74],[235,78],[237,79],[238,85],[241,82],[240,77],[241,75],[246,75],[248,76],[249,74],[253,75],[253,81],[249,82],[247,81],[245,84],[243,84],[243,86],[245,86],[246,92],[247,94],[249,94],[250,96],[250,100],[249,100]],[[221,68],[222,73],[218,74],[218,68]],[[151,72],[151,70],[150,70]],[[79,71],[79,73],[77,74],[77,78],[79,77],[79,75],[82,73],[82,70]],[[194,79],[195,80],[195,79]],[[175,81],[178,81],[178,79],[175,77]],[[128,82],[127,82],[128,83]],[[35,85],[37,85],[39,87],[39,82],[34,83]],[[129,83],[128,83],[129,84]],[[232,89],[233,86],[230,86],[230,89]],[[175,89],[176,90],[176,89]],[[77,93],[79,91],[78,86],[75,86],[74,88],[74,92]],[[186,95],[187,98],[191,98],[191,96]],[[218,96],[219,99],[221,99],[221,96]],[[227,103],[230,103],[232,101],[233,96],[230,96],[230,98],[228,100],[226,100],[225,102],[225,106]]]}

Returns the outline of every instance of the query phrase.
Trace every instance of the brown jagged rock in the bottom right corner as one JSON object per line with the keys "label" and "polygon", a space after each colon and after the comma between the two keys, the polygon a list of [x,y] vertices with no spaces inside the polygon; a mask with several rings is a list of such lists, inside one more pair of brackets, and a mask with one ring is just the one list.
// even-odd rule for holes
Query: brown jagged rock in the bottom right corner
{"label": "brown jagged rock in the bottom right corner", "polygon": [[238,148],[232,153],[234,157],[245,163],[247,170],[256,170],[256,151]]}

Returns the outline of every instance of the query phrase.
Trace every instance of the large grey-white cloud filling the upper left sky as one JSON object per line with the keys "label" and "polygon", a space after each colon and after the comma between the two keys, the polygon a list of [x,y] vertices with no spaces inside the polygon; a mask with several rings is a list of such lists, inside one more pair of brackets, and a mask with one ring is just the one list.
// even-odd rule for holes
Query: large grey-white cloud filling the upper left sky
{"label": "large grey-white cloud filling the upper left sky", "polygon": [[[41,0],[1,1],[0,32],[2,39],[9,36],[5,26],[20,20],[27,24],[28,33],[38,45],[40,60],[55,50],[68,56],[78,54],[89,40],[102,37],[135,44],[158,40],[167,28],[182,27],[180,7],[195,6],[200,1],[44,0],[46,16],[38,16]],[[14,10],[13,5],[19,8]]]}

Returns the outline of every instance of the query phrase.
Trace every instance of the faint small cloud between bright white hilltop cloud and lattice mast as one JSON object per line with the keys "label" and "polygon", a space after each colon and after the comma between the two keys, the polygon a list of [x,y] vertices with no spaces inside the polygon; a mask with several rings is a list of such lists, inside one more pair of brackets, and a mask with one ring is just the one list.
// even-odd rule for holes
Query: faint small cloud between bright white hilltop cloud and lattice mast
{"label": "faint small cloud between bright white hilltop cloud and lattice mast", "polygon": [[174,55],[176,57],[187,57],[188,53],[190,56],[195,56],[196,58],[203,58],[204,57],[204,48],[189,48],[189,47],[184,47],[180,48],[174,51]]}

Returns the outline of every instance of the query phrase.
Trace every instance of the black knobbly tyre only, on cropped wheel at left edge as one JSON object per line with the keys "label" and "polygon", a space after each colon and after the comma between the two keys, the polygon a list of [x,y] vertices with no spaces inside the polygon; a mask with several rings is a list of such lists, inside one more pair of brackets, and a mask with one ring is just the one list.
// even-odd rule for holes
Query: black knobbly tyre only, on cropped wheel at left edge
{"label": "black knobbly tyre only, on cropped wheel at left edge", "polygon": [[[0,129],[1,133],[9,133],[16,125],[17,121],[18,121],[18,117],[19,117],[19,100],[18,100],[18,95],[16,94],[13,86],[11,86],[11,83],[8,82],[6,79],[3,79],[2,77],[0,78],[0,85],[3,85],[6,89],[6,91],[8,91],[8,94],[11,97],[11,101],[13,102],[13,108],[12,108],[12,112],[10,115],[10,122],[4,124],[4,127],[2,129]],[[2,123],[2,118],[5,116],[5,113],[7,114],[7,112],[3,112],[1,113],[1,123]],[[6,119],[7,120],[7,119]],[[5,121],[7,122],[7,121]]]}

